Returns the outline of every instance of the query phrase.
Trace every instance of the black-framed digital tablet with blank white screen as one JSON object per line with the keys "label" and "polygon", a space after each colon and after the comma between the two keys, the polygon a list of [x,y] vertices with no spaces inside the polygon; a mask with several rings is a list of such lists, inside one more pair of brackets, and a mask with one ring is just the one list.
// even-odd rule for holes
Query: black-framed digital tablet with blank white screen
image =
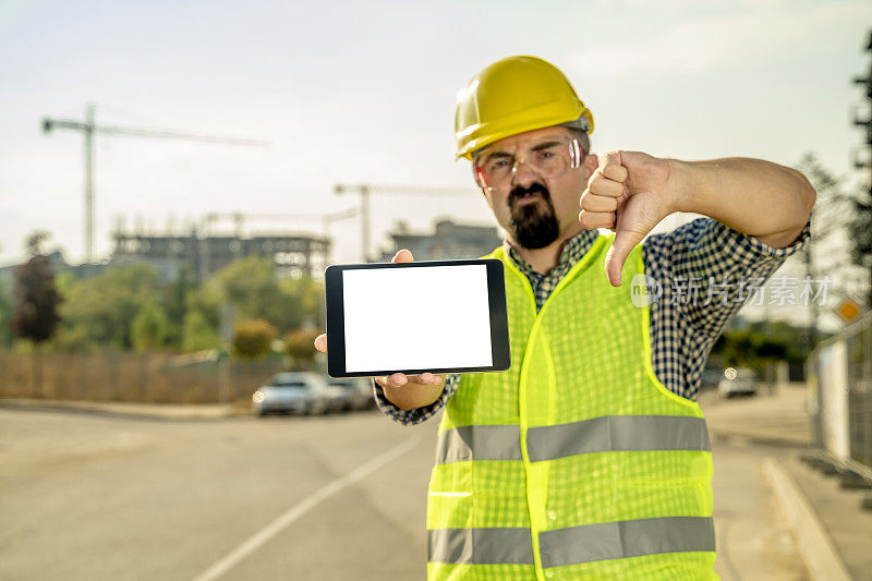
{"label": "black-framed digital tablet with blank white screen", "polygon": [[325,299],[331,377],[511,366],[497,258],[330,265]]}

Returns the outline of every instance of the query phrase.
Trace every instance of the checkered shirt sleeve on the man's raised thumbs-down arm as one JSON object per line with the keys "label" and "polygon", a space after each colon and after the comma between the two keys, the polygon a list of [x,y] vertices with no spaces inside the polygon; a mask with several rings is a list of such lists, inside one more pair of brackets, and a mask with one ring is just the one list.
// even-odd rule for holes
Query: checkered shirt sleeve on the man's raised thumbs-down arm
{"label": "checkered shirt sleeve on the man's raised thumbs-down arm", "polygon": [[[788,246],[776,249],[708,217],[697,218],[646,241],[668,274],[661,282],[679,320],[712,341],[763,283],[799,252],[811,219]],[[695,288],[695,291],[694,291]]]}

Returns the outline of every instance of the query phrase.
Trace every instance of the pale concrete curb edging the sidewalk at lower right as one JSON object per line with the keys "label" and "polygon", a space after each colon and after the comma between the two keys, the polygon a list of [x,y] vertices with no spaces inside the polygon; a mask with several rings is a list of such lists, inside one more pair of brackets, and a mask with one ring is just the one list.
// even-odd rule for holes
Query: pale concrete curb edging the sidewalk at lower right
{"label": "pale concrete curb edging the sidewalk at lower right", "polygon": [[775,492],[782,511],[787,517],[788,524],[796,535],[812,579],[851,581],[851,576],[821,524],[814,508],[782,463],[775,458],[765,458],[763,474]]}

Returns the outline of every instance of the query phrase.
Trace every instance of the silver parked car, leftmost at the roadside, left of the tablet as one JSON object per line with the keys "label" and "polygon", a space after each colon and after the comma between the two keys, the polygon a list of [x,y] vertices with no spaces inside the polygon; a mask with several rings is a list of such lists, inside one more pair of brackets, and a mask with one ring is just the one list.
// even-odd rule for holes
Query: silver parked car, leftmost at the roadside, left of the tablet
{"label": "silver parked car, leftmost at the roadside, left of the tablet", "polygon": [[254,412],[261,416],[270,412],[323,414],[329,401],[326,378],[314,372],[278,373],[252,396]]}

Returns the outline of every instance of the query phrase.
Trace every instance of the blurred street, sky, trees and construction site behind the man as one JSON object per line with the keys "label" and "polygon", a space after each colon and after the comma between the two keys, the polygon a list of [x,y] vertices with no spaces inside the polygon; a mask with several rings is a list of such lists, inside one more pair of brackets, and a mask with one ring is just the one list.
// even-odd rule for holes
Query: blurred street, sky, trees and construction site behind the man
{"label": "blurred street, sky, trees and construction site behind the man", "polygon": [[567,73],[596,154],[815,186],[811,242],[703,376],[717,570],[872,578],[871,16],[0,1],[0,578],[425,578],[438,416],[326,375],[324,268],[500,243],[455,99],[517,53]]}

